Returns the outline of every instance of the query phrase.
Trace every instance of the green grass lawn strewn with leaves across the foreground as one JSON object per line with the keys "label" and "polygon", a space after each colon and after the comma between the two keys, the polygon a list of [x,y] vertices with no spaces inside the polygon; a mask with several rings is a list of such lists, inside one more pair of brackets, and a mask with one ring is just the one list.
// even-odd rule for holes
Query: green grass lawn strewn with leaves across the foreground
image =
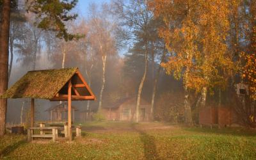
{"label": "green grass lawn strewn with leaves across the foreground", "polygon": [[1,159],[256,159],[256,132],[244,129],[188,128],[161,123],[81,124],[73,143],[26,136],[0,139]]}

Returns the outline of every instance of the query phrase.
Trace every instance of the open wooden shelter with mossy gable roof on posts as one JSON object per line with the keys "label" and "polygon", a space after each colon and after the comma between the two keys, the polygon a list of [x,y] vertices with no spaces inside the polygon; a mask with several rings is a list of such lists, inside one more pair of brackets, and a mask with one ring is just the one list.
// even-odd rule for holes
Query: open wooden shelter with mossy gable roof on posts
{"label": "open wooden shelter with mossy gable roof on posts", "polygon": [[31,98],[31,127],[35,122],[35,99],[68,101],[68,137],[72,139],[72,100],[95,100],[78,68],[32,70],[1,95],[4,99]]}

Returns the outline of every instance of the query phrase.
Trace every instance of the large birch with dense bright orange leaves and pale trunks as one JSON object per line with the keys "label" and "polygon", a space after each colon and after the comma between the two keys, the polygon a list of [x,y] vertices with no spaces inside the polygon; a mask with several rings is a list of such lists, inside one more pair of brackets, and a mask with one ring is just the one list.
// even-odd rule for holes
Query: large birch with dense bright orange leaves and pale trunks
{"label": "large birch with dense bright orange leaves and pale trunks", "polygon": [[172,52],[162,67],[167,74],[183,79],[186,124],[192,122],[189,91],[201,93],[204,107],[207,92],[216,86],[225,86],[232,74],[234,63],[225,43],[230,26],[229,4],[221,0],[154,0],[149,3],[155,16],[164,21],[159,36]]}

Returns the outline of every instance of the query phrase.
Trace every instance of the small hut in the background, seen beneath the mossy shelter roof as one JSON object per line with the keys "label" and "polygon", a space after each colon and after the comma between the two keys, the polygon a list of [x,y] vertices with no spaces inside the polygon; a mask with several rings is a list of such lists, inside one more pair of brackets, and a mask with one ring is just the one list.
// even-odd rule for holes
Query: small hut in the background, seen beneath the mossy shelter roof
{"label": "small hut in the background, seen beneath the mossy shelter roof", "polygon": [[[52,106],[51,108],[46,109],[49,113],[49,120],[51,122],[61,122],[63,120],[67,120],[67,112],[68,112],[68,106],[67,104],[61,103],[56,106]],[[78,109],[75,106],[71,106],[72,111],[72,120],[75,121],[75,111],[78,111]]]}

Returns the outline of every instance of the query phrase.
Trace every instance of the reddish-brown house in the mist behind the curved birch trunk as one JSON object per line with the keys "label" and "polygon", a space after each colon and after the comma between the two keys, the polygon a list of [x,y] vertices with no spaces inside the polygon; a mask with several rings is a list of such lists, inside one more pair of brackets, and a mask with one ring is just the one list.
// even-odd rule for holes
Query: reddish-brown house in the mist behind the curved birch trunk
{"label": "reddish-brown house in the mist behind the curved birch trunk", "polygon": [[[102,112],[106,120],[136,120],[136,97],[126,97],[119,99],[113,104],[103,106]],[[150,104],[144,100],[140,100],[140,122],[149,121]]]}

